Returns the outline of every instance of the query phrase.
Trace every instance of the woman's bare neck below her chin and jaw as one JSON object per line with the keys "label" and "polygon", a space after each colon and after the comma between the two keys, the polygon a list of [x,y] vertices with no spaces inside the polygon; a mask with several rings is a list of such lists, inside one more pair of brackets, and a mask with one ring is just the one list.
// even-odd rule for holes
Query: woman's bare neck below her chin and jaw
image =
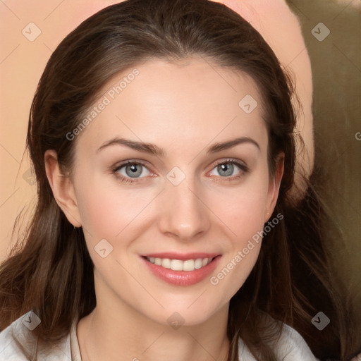
{"label": "woman's bare neck below her chin and jaw", "polygon": [[77,334],[82,361],[227,360],[228,305],[202,324],[178,329],[129,308],[116,317],[97,305],[80,320]]}

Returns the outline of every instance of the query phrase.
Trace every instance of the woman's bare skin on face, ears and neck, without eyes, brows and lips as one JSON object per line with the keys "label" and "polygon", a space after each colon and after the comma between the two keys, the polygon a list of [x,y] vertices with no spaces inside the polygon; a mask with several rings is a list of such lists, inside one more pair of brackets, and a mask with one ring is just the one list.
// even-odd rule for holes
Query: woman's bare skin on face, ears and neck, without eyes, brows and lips
{"label": "woman's bare skin on face, ears and neck, without eyes, brows and lips", "polygon": [[[283,154],[270,177],[262,99],[244,73],[197,57],[181,63],[153,59],[136,68],[140,75],[73,140],[70,176],[59,171],[54,150],[44,155],[56,202],[71,224],[82,226],[94,262],[97,307],[78,324],[80,352],[91,361],[226,360],[228,303],[254,267],[261,243],[219,284],[209,278],[269,220]],[[104,92],[126,74],[117,75]],[[238,106],[245,94],[258,102],[250,114]],[[124,145],[97,152],[115,136],[153,143],[165,154]],[[207,154],[214,143],[235,137],[250,137],[259,149],[244,142]],[[216,161],[227,164],[228,158],[250,171],[235,166],[227,181]],[[121,182],[110,170],[128,159],[147,166],[138,183]],[[166,178],[174,166],[185,173],[179,185]],[[118,173],[126,176],[125,167]],[[103,238],[114,247],[106,258],[94,250]],[[166,251],[222,256],[200,283],[175,286],[154,276],[140,258]],[[185,320],[176,330],[167,323],[173,312]]]}

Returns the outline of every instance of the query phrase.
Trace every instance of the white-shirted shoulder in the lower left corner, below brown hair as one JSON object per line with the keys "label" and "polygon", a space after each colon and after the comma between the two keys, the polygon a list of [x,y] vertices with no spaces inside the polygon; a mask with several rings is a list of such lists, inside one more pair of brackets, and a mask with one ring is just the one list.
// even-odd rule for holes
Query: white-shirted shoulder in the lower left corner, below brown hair
{"label": "white-shirted shoulder in the lower left corner, below brown hair", "polygon": [[56,345],[46,345],[32,332],[40,319],[30,311],[0,332],[0,361],[60,361],[71,360],[69,337]]}

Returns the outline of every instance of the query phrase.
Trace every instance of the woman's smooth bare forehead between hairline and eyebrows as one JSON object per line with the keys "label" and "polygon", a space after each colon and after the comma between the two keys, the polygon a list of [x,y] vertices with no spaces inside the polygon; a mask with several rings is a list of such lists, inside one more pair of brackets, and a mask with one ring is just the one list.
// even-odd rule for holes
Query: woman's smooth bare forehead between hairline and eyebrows
{"label": "woman's smooth bare forehead between hairline and eyebrows", "polygon": [[202,58],[152,59],[128,68],[104,86],[90,112],[97,114],[80,137],[89,149],[115,135],[174,145],[235,132],[264,137],[266,131],[252,78]]}

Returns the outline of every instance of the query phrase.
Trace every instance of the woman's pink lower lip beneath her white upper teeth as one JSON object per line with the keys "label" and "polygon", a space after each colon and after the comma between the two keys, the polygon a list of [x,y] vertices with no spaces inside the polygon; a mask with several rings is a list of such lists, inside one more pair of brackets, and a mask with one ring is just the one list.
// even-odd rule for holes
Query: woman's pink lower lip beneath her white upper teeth
{"label": "woman's pink lower lip beneath her white upper teeth", "polygon": [[219,259],[221,255],[214,257],[212,262],[207,264],[200,269],[195,269],[194,271],[173,271],[173,269],[164,268],[147,261],[145,257],[141,257],[153,274],[159,279],[171,283],[176,286],[190,286],[203,281],[209,274],[212,274],[214,269],[219,264]]}

